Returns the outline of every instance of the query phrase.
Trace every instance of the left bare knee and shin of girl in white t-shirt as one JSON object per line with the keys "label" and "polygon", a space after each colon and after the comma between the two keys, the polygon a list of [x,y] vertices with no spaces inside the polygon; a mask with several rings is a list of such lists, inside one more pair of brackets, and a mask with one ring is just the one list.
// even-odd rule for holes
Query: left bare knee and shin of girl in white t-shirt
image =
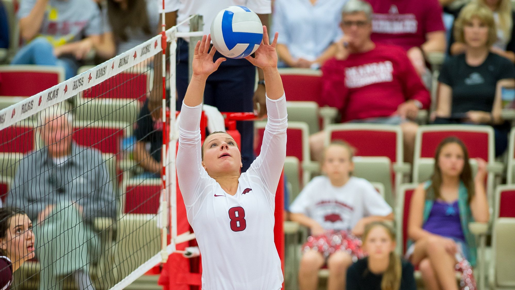
{"label": "left bare knee and shin of girl in white t-shirt", "polygon": [[315,250],[306,251],[300,260],[299,289],[315,290],[318,284],[318,270],[323,266],[321,253]]}

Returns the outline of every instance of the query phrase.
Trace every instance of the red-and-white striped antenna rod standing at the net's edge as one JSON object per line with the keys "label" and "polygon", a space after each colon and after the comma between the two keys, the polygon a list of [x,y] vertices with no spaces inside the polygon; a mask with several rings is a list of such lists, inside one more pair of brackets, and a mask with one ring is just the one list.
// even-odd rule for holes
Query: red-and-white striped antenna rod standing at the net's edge
{"label": "red-and-white striped antenna rod standing at the net's edge", "polygon": [[[162,100],[162,107],[161,107],[161,121],[163,122],[163,147],[161,148],[161,179],[163,181],[163,188],[161,190],[161,200],[160,200],[160,210],[159,210],[159,219],[160,219],[160,226],[161,226],[161,262],[166,263],[168,259],[168,252],[166,251],[166,245],[167,245],[167,224],[168,224],[168,198],[167,198],[167,189],[166,189],[166,167],[167,167],[167,159],[166,159],[166,147],[168,144],[168,126],[167,126],[167,110],[166,110],[166,22],[165,22],[165,5],[164,1],[162,0],[163,10],[161,11],[161,48],[162,51],[162,57],[161,57],[161,76],[162,76],[162,92],[163,92],[163,100]],[[155,72],[157,73],[157,72]],[[174,103],[173,101],[170,101],[170,103]],[[175,111],[174,111],[175,113]],[[168,112],[169,114],[169,112]],[[175,114],[174,114],[175,117]],[[173,129],[173,128],[171,128]]]}

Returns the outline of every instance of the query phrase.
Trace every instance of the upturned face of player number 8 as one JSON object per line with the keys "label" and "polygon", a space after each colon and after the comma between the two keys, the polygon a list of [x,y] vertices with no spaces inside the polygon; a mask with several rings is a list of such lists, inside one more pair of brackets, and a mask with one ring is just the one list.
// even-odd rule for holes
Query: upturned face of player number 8
{"label": "upturned face of player number 8", "polygon": [[239,152],[236,141],[226,133],[209,135],[204,141],[204,160],[202,166],[209,175],[232,174],[237,172],[242,165],[242,155]]}

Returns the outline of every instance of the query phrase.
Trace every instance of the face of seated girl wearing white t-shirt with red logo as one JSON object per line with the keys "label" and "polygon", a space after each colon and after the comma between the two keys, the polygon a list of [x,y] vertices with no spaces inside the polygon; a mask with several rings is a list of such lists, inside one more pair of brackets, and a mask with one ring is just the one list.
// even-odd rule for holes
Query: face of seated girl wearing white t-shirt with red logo
{"label": "face of seated girl wearing white t-shirt with red logo", "polygon": [[322,170],[331,180],[349,178],[350,173],[354,170],[349,150],[339,145],[329,146],[325,150]]}

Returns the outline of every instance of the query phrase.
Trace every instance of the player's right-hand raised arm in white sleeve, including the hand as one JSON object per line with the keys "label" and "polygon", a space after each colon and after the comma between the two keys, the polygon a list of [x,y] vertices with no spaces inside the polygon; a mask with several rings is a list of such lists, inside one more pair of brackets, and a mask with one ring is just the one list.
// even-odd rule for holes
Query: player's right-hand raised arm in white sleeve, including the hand
{"label": "player's right-hand raised arm in white sleeve, including the hand", "polygon": [[266,108],[268,119],[263,134],[261,153],[247,171],[259,176],[270,194],[275,195],[286,157],[286,129],[288,116],[283,82],[277,70],[276,44],[278,33],[272,44],[268,40],[268,32],[263,26],[263,42],[255,52],[255,57],[247,57],[255,66],[261,67],[266,82]]}

